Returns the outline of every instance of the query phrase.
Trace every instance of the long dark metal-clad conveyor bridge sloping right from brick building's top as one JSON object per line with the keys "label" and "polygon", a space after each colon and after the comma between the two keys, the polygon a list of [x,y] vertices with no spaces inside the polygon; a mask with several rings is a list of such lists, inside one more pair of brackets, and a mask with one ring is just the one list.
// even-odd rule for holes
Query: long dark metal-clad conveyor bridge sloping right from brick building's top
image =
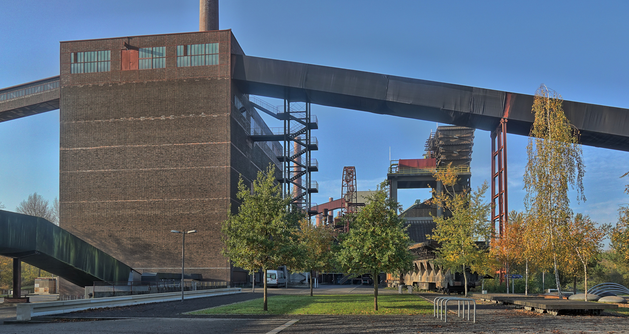
{"label": "long dark metal-clad conveyor bridge sloping right from brick building's top", "polygon": [[[336,67],[232,55],[233,79],[243,93],[493,131],[501,118],[511,134],[528,135],[533,95],[388,76]],[[581,143],[629,151],[629,110],[564,101]]]}

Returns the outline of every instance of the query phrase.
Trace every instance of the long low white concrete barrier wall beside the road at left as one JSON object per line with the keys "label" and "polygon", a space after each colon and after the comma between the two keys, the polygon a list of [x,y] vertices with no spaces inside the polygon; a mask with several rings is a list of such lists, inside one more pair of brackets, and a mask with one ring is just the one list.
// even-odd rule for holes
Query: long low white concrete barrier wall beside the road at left
{"label": "long low white concrete barrier wall beside the road at left", "polygon": [[[228,289],[211,289],[184,292],[184,299],[221,296],[224,294],[238,294],[242,292],[240,287]],[[163,294],[138,294],[136,296],[104,297],[92,299],[77,299],[74,301],[50,301],[18,304],[18,320],[31,320],[33,316],[47,316],[50,314],[69,313],[83,309],[114,308],[116,306],[128,306],[147,304],[149,302],[178,301],[181,300],[181,292],[166,292]]]}

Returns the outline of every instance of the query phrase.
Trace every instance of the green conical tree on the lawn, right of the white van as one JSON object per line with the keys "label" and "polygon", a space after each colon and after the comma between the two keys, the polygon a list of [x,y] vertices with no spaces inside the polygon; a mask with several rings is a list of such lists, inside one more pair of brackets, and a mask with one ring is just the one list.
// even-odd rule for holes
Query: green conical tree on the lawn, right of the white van
{"label": "green conical tree on the lawn, right of the white van", "polygon": [[343,272],[373,275],[374,311],[378,310],[379,274],[406,273],[413,268],[408,250],[411,239],[396,212],[401,205],[387,196],[386,188],[386,181],[378,185],[366,198],[369,204],[353,214],[337,258]]}

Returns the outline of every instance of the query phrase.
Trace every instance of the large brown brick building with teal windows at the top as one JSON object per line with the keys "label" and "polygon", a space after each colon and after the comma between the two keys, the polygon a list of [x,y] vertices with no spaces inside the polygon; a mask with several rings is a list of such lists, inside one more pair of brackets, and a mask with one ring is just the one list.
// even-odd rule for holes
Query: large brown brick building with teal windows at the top
{"label": "large brown brick building with teal windows at the top", "polygon": [[197,229],[186,272],[245,279],[220,253],[221,222],[239,176],[279,162],[276,143],[248,137],[266,125],[231,80],[232,54],[231,30],[61,42],[61,227],[147,272],[177,272],[169,231]]}

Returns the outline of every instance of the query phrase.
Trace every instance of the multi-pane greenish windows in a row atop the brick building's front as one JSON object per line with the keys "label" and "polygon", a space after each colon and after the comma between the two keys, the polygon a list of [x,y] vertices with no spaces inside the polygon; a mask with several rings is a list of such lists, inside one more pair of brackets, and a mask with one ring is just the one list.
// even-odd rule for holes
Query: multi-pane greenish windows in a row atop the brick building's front
{"label": "multi-pane greenish windows in a row atop the brick building's front", "polygon": [[[177,67],[218,65],[218,43],[177,45]],[[111,71],[111,51],[72,52],[70,73]],[[166,67],[166,47],[138,49],[138,69]]]}

